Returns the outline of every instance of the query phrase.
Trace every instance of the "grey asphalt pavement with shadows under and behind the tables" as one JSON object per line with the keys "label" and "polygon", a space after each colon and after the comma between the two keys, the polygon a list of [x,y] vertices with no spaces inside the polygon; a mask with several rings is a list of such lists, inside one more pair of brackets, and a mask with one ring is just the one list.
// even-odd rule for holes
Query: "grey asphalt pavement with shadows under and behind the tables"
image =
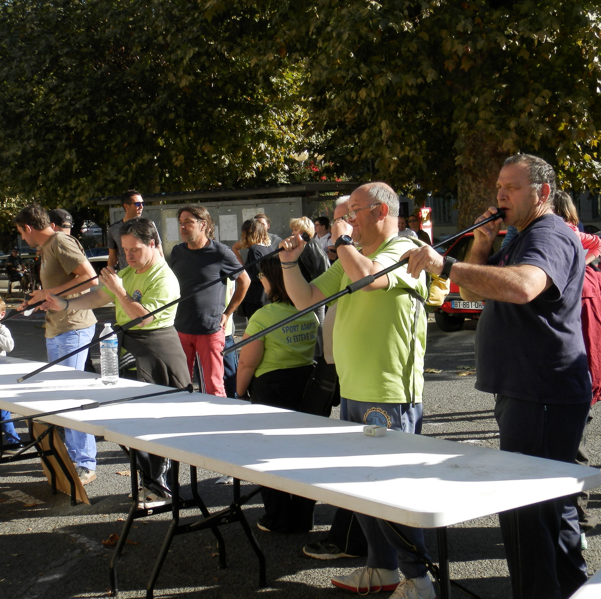
{"label": "grey asphalt pavement with shadows under and behind the tables", "polygon": [[[110,310],[99,312],[110,319]],[[10,328],[16,341],[11,355],[46,359],[41,319],[14,319]],[[475,323],[467,322],[457,333],[443,333],[429,323],[423,434],[460,443],[498,448],[498,429],[493,417],[493,397],[474,389]],[[97,353],[93,354],[97,360]],[[467,373],[467,374],[466,374]],[[332,417],[337,417],[337,412]],[[591,465],[601,464],[600,421],[593,421],[588,446]],[[120,534],[129,509],[127,493],[129,462],[120,447],[98,439],[97,479],[87,485],[91,505],[71,506],[64,494],[53,496],[37,460],[0,467],[0,597],[7,599],[67,599],[106,597],[111,547],[103,544]],[[182,464],[182,484],[189,472]],[[218,473],[199,470],[200,494],[210,511],[232,500],[232,487],[216,485]],[[243,486],[243,493],[253,487]],[[189,496],[189,487],[183,486]],[[441,498],[444,501],[444,498]],[[591,493],[589,503],[601,518],[601,490]],[[189,511],[185,521],[198,512]],[[177,536],[160,573],[155,596],[178,599],[234,599],[291,597],[338,599],[349,592],[331,586],[331,576],[348,573],[365,560],[317,561],[304,556],[302,547],[326,535],[334,508],[316,506],[316,526],[307,534],[278,535],[256,528],[263,513],[260,496],[245,507],[267,559],[268,587],[258,586],[257,559],[239,524],[222,527],[227,550],[227,569],[220,570],[216,541],[210,531]],[[138,520],[130,543],[119,562],[120,597],[145,597],[157,551],[168,529],[169,515]],[[601,527],[588,537],[585,551],[589,573],[601,567]],[[510,582],[498,518],[478,518],[448,531],[451,576],[487,599],[509,599]],[[438,560],[436,536],[426,531],[432,559]],[[527,573],[525,574],[527,576]],[[384,594],[386,597],[388,594]],[[453,599],[465,597],[453,590]]]}

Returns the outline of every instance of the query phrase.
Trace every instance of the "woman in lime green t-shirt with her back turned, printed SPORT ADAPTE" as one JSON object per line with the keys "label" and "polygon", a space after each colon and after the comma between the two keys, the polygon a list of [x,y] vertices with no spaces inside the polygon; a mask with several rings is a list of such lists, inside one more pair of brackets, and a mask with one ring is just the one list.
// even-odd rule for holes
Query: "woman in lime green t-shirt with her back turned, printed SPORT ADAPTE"
{"label": "woman in lime green t-shirt with her back turned, printed SPORT ADAPTE", "polygon": [[[271,303],[251,316],[243,339],[298,312],[286,293],[277,256],[261,263],[259,278]],[[311,312],[245,345],[240,350],[237,397],[249,395],[253,404],[298,410],[313,372],[318,324]],[[313,528],[313,500],[266,487],[261,495],[265,505],[265,515],[257,523],[261,530],[294,533]]]}

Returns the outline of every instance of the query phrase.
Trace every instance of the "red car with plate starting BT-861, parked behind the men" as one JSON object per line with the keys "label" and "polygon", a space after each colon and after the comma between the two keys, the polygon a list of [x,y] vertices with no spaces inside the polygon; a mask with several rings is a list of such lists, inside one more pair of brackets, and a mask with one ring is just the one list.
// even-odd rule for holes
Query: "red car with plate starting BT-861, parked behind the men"
{"label": "red car with plate starting BT-861, parked behind the men", "polygon": [[[501,244],[507,231],[501,231],[492,247],[492,254],[501,249]],[[469,248],[474,243],[474,233],[466,233],[445,251],[444,256],[457,260],[465,260]],[[459,287],[451,282],[451,290],[441,307],[436,309],[434,318],[442,331],[459,331],[466,318],[477,320],[484,307],[483,301],[464,301],[459,295]]]}

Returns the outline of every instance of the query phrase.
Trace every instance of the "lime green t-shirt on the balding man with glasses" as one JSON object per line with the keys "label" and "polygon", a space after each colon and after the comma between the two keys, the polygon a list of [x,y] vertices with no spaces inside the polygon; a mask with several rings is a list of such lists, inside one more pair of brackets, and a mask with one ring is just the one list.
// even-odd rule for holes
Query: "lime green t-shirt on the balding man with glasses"
{"label": "lime green t-shirt on the balding man with glasses", "polygon": [[[386,268],[413,248],[415,244],[409,239],[391,237],[368,257]],[[418,300],[406,289],[412,287],[426,297],[426,275],[422,272],[415,279],[407,274],[406,266],[401,266],[389,272],[388,281],[385,289],[359,290],[338,299],[333,351],[340,395],[378,403],[421,402],[427,315],[420,305],[415,323]],[[340,260],[312,281],[326,297],[350,282]]]}

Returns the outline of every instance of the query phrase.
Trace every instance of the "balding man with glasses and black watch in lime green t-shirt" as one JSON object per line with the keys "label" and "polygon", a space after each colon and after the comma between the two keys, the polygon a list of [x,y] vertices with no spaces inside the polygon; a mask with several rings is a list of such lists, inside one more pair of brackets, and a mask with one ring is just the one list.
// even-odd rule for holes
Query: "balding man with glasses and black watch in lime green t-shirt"
{"label": "balding man with glasses and black watch in lime green t-shirt", "polygon": [[[385,183],[355,189],[349,213],[332,226],[338,260],[310,284],[297,267],[305,242],[300,236],[282,242],[286,251],[279,256],[284,284],[297,309],[376,274],[415,247],[409,239],[397,237],[398,206],[398,195]],[[353,242],[361,246],[359,251]],[[427,318],[415,292],[426,297],[425,276],[415,279],[402,267],[338,299],[333,352],[342,419],[404,432],[421,431]],[[335,577],[332,583],[362,594],[391,591],[400,585],[399,591],[412,597],[433,599],[435,591],[427,569],[399,542],[394,533],[398,525],[363,514],[357,517],[368,542],[367,567]],[[400,529],[427,556],[421,529]],[[404,574],[401,583],[397,568]]]}

